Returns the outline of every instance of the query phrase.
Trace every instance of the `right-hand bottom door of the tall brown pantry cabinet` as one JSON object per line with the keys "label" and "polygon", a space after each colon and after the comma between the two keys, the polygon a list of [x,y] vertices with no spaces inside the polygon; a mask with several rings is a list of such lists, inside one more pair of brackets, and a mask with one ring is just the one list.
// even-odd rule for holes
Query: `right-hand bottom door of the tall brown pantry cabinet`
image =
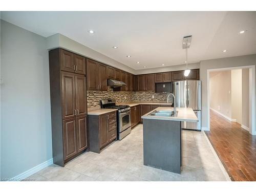
{"label": "right-hand bottom door of the tall brown pantry cabinet", "polygon": [[76,118],[77,153],[88,147],[87,116]]}

